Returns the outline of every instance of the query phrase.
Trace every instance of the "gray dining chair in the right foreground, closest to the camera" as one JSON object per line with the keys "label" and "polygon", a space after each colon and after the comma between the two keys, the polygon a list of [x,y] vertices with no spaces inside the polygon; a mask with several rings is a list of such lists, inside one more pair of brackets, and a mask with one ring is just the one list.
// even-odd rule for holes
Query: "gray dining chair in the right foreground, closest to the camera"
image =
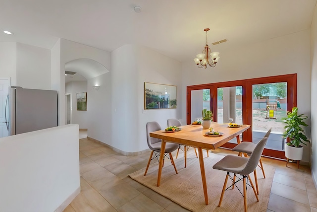
{"label": "gray dining chair in the right foreground, closest to the camera", "polygon": [[[218,207],[221,206],[224,191],[226,191],[230,187],[232,187],[232,189],[233,189],[234,188],[233,186],[236,185],[236,183],[241,181],[241,180],[243,181],[243,195],[242,196],[243,196],[243,202],[244,202],[244,211],[247,212],[247,186],[252,187],[253,192],[254,192],[254,194],[259,202],[258,194],[254,188],[254,185],[252,183],[252,180],[251,180],[249,174],[252,173],[257,168],[260,157],[261,157],[262,152],[264,150],[264,146],[266,144],[266,141],[267,141],[267,137],[265,137],[258,144],[256,144],[256,147],[253,149],[253,152],[251,153],[250,157],[226,155],[224,158],[222,158],[220,161],[218,161],[216,164],[213,165],[213,167],[212,167],[213,169],[218,169],[218,170],[222,170],[222,171],[227,172],[226,178],[224,180],[224,184],[223,184]],[[234,174],[233,178],[230,176],[230,173]],[[238,177],[239,179],[237,181],[235,181],[237,174],[241,175],[242,178]],[[232,180],[232,185],[229,186],[228,188],[226,188],[228,177],[230,177],[230,179]],[[246,182],[246,178],[249,179],[251,185],[249,185]],[[237,187],[237,189],[239,190],[238,187]],[[240,193],[241,193],[241,191],[240,191]]]}

